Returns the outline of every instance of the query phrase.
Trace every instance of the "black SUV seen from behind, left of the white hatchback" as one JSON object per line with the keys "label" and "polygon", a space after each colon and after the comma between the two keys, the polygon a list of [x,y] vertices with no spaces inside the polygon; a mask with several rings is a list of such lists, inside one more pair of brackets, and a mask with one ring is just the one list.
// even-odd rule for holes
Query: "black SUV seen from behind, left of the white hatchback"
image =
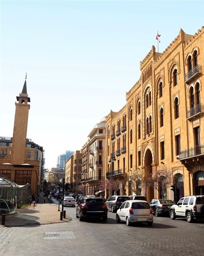
{"label": "black SUV seen from behind, left of the white hatchback", "polygon": [[88,217],[102,218],[106,221],[108,218],[108,210],[103,198],[81,198],[80,202],[77,202],[76,217],[79,218],[80,221]]}

